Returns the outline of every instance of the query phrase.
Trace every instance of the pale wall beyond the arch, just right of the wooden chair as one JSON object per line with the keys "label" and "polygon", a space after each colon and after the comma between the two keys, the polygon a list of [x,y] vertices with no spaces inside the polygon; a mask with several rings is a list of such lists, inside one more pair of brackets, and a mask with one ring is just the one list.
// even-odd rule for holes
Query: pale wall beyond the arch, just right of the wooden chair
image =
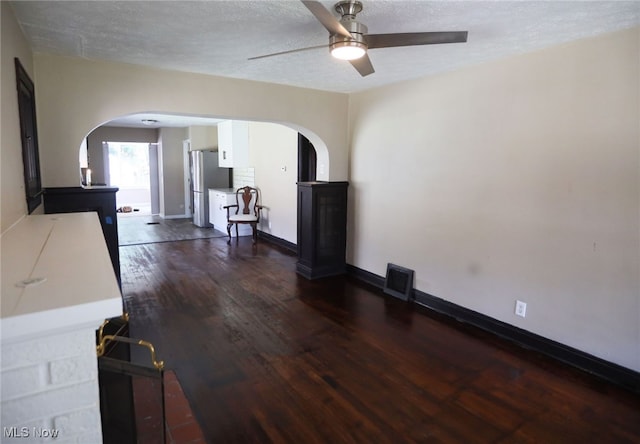
{"label": "pale wall beyond the arch, just right of the wooden chair", "polygon": [[283,125],[252,122],[249,164],[255,168],[255,183],[265,206],[260,229],[297,243],[298,132]]}

